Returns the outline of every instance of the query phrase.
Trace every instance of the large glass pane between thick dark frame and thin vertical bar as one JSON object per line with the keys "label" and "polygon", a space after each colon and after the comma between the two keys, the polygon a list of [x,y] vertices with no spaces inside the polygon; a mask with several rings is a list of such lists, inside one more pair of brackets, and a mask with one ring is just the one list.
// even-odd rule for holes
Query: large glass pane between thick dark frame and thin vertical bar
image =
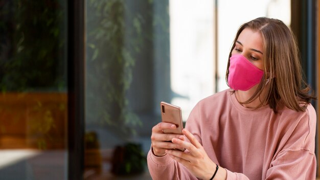
{"label": "large glass pane between thick dark frame and thin vertical bar", "polygon": [[212,1],[86,1],[85,179],[151,179],[159,103],[181,106],[186,120],[214,91],[213,9]]}

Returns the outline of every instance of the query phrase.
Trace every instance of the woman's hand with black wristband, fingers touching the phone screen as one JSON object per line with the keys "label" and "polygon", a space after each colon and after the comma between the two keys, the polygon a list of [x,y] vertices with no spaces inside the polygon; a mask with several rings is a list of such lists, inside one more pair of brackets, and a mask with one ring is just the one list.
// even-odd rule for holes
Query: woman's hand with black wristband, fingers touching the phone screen
{"label": "woman's hand with black wristband, fingers touching the phone screen", "polygon": [[182,133],[189,139],[189,142],[184,141],[184,137],[179,139],[173,138],[172,143],[178,144],[186,148],[185,152],[168,149],[166,153],[172,159],[183,164],[189,171],[198,178],[210,179],[216,170],[216,164],[209,158],[204,151],[202,145],[187,129],[183,129]]}

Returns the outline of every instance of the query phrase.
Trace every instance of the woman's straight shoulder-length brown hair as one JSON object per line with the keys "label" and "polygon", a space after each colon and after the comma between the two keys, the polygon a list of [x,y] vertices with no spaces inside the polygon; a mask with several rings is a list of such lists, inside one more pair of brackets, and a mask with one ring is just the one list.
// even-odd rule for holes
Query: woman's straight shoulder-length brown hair
{"label": "woman's straight shoulder-length brown hair", "polygon": [[[245,28],[261,33],[264,75],[254,95],[242,103],[248,104],[259,97],[262,102],[260,106],[269,104],[275,113],[277,113],[277,107],[282,105],[296,111],[304,111],[310,100],[315,97],[309,94],[311,89],[303,80],[300,52],[295,36],[281,20],[259,17],[240,26],[229,54],[226,82],[231,53],[240,33]],[[266,88],[266,96],[260,97],[264,88]]]}

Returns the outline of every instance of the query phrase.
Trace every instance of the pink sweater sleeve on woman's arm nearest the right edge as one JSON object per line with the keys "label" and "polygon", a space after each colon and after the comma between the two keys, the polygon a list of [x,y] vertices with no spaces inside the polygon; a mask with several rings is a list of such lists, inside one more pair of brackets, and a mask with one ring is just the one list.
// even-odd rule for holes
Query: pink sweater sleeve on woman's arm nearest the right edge
{"label": "pink sweater sleeve on woman's arm nearest the right edge", "polygon": [[[307,122],[307,123],[305,123]],[[314,154],[316,114],[312,106],[301,117],[285,145],[271,161],[265,179],[315,179]],[[248,179],[244,174],[227,170],[227,180]]]}

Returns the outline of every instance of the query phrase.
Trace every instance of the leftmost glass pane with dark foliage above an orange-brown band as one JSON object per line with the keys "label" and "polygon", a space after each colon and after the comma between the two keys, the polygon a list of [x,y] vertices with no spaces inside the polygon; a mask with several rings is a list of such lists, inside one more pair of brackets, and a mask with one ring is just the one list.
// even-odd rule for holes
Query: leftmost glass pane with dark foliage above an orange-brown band
{"label": "leftmost glass pane with dark foliage above an orange-brown band", "polygon": [[66,179],[66,3],[0,6],[0,179]]}

